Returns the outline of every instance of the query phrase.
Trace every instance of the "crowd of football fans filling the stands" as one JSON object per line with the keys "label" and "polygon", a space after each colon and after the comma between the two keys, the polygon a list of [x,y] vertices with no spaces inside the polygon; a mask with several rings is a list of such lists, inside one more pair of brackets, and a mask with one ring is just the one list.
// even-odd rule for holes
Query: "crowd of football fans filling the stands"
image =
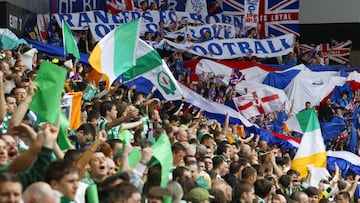
{"label": "crowd of football fans filling the stands", "polygon": [[[142,4],[143,10],[148,8]],[[164,31],[175,31],[186,26],[173,23],[164,27],[159,23],[155,33],[145,33],[144,40],[159,41]],[[60,28],[54,22],[49,32],[49,43],[62,45]],[[256,29],[246,37],[259,37]],[[181,43],[187,36],[175,39]],[[206,34],[198,42],[210,40]],[[96,42],[90,33],[81,31],[78,47],[90,53]],[[26,51],[26,48],[22,52]],[[189,53],[165,47],[158,50],[179,82],[211,101],[226,104],[238,96],[234,86],[221,85],[215,80],[190,82],[190,72],[177,62],[197,58]],[[360,202],[354,199],[360,176],[346,174],[335,166],[329,179],[310,185],[309,176],[301,178],[291,169],[295,149],[269,144],[242,125],[230,125],[209,120],[204,109],[182,101],[169,102],[138,92],[115,82],[109,91],[104,82],[91,100],[82,101],[81,125],[68,136],[72,148],[61,151],[58,143],[59,126],[37,124],[36,114],[28,110],[36,92],[34,78],[46,57],[37,53],[32,69],[25,69],[21,52],[1,50],[0,61],[0,203],[2,202],[92,202],[90,187],[96,185],[99,202]],[[300,57],[298,57],[300,56]],[[319,53],[309,59],[310,53],[294,50],[284,56],[281,64],[324,64],[328,59]],[[238,60],[254,60],[244,57]],[[84,92],[95,83],[87,74],[90,68],[77,64],[76,75],[68,69],[68,84],[64,93]],[[354,96],[351,96],[354,95]],[[341,98],[328,99],[318,114],[322,122],[334,118],[346,123],[347,133],[327,140],[329,150],[349,149],[351,118],[358,114],[358,93],[344,91]],[[296,102],[296,101],[293,101]],[[316,104],[307,103],[304,108]],[[250,121],[266,129],[288,136],[283,122],[292,112],[281,110],[260,115]],[[130,143],[122,135],[130,134]],[[166,187],[160,187],[161,165],[150,165],[151,146],[161,135],[171,143],[172,169]],[[129,154],[141,152],[140,161],[131,166]],[[358,151],[358,149],[352,149]],[[309,167],[309,170],[311,168]]]}

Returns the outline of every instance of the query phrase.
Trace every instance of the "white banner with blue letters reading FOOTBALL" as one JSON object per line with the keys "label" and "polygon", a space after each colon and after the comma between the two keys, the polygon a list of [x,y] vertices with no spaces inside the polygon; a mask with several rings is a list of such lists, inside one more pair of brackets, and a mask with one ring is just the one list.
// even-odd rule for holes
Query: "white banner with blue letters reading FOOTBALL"
{"label": "white banner with blue letters reading FOOTBALL", "polygon": [[293,51],[294,35],[287,34],[270,39],[235,38],[211,40],[202,43],[177,44],[162,40],[156,45],[162,49],[164,43],[180,51],[212,59],[234,59],[242,56],[257,56],[259,58],[283,56]]}

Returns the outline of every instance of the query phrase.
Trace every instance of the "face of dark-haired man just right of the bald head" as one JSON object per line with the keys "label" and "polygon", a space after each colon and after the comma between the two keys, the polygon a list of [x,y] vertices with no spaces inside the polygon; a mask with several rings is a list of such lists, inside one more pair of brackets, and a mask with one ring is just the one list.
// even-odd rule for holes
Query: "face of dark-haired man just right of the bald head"
{"label": "face of dark-haired man just right of the bald head", "polygon": [[76,190],[79,184],[79,174],[69,173],[66,174],[60,182],[55,183],[55,189],[61,192],[65,197],[69,198],[70,200],[75,199]]}

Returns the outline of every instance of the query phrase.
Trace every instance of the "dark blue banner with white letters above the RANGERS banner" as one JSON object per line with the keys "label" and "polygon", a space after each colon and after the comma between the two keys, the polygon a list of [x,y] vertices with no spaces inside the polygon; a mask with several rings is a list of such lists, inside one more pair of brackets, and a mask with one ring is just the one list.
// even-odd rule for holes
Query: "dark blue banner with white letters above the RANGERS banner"
{"label": "dark blue banner with white letters above the RANGERS banner", "polygon": [[104,0],[56,0],[57,13],[75,13],[104,9]]}

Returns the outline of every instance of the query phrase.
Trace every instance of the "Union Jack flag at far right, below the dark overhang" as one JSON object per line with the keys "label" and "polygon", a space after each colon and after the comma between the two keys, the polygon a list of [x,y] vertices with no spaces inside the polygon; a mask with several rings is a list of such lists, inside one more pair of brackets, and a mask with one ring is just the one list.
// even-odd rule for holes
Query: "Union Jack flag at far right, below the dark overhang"
{"label": "Union Jack flag at far right, below the dark overhang", "polygon": [[[327,56],[331,64],[346,64],[349,62],[351,53],[351,40],[337,42],[331,40],[331,43],[320,44],[320,49],[324,56]],[[316,46],[301,44],[300,49],[304,51],[314,51]]]}

